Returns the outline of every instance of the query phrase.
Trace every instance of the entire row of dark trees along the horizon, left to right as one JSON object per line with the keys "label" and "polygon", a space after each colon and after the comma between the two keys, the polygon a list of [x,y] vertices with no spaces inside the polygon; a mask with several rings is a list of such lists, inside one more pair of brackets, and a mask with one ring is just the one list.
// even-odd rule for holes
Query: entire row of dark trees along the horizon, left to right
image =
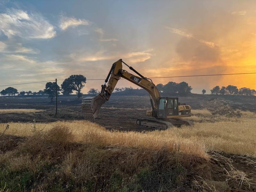
{"label": "entire row of dark trees along the horizon, left to right", "polygon": [[[84,87],[86,83],[86,77],[83,75],[71,75],[68,78],[66,78],[62,84],[61,87],[57,84],[57,95],[60,94],[60,92],[63,95],[69,95],[73,92],[76,92],[77,97],[82,97],[83,93],[81,92],[82,88]],[[159,92],[162,93],[169,93],[169,94],[188,94],[191,93],[192,87],[188,85],[186,82],[181,83],[175,83],[175,82],[168,82],[167,84],[157,84],[156,85]],[[132,90],[132,87],[116,87],[114,92],[121,92],[126,90]],[[95,88],[91,88],[88,92],[88,94],[99,94],[100,91]],[[202,93],[205,94],[206,90],[203,89]],[[17,89],[13,87],[7,87],[6,89],[2,90],[0,92],[3,96],[15,96],[20,95],[48,95],[49,98],[51,98],[51,101],[54,97],[56,97],[56,83],[55,82],[47,82],[45,84],[44,90],[39,90],[38,92],[32,92],[32,91],[21,91],[18,92]],[[254,89],[242,87],[238,89],[234,85],[228,85],[227,87],[222,86],[215,86],[211,90],[211,94],[213,95],[256,95],[256,91]]]}

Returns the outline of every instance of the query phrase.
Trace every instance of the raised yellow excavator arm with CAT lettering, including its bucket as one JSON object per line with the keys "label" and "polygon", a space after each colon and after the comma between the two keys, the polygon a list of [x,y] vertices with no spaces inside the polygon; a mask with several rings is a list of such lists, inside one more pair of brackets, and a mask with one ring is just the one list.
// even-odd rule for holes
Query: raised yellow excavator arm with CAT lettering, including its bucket
{"label": "raised yellow excavator arm with CAT lettering, including its bucket", "polygon": [[[123,69],[123,65],[125,64],[129,67],[133,72],[135,72],[138,76],[133,75],[126,70]],[[101,106],[109,100],[112,92],[114,91],[116,84],[120,78],[124,78],[133,84],[138,85],[139,87],[145,89],[150,95],[150,102],[152,111],[156,111],[158,108],[158,100],[160,97],[159,91],[156,88],[156,85],[152,82],[151,79],[142,76],[139,72],[137,72],[132,67],[128,66],[122,59],[113,63],[108,76],[105,80],[105,83],[101,85],[101,92],[98,96],[95,97],[86,97],[82,101],[82,109],[84,112],[84,116],[86,119],[94,120],[100,112]],[[154,101],[154,103],[153,103]]]}

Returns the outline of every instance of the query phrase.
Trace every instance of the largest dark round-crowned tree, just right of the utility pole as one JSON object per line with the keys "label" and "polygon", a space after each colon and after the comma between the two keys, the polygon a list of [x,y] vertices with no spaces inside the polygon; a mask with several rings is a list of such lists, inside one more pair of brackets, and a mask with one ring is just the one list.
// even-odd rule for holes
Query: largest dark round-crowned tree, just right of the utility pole
{"label": "largest dark round-crowned tree, just right of the utility pole", "polygon": [[65,94],[70,93],[71,91],[72,92],[76,91],[77,97],[79,98],[83,95],[81,90],[84,87],[85,83],[86,83],[85,76],[71,75],[63,81],[63,83],[61,84],[61,89]]}

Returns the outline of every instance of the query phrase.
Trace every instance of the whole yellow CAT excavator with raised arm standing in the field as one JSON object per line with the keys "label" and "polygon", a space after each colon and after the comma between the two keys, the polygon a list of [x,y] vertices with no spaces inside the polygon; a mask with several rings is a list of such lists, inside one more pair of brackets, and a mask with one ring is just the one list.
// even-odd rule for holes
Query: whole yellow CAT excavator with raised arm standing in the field
{"label": "whole yellow CAT excavator with raised arm standing in the field", "polygon": [[[125,64],[137,75],[124,70],[122,64]],[[146,116],[151,116],[151,118],[137,119],[136,124],[139,127],[165,130],[172,126],[194,124],[193,121],[180,119],[181,117],[191,116],[191,107],[189,105],[179,103],[179,98],[177,97],[161,97],[156,85],[151,79],[142,76],[122,59],[113,63],[105,83],[101,85],[100,94],[93,97],[85,97],[82,100],[82,111],[84,112],[85,119],[94,121],[99,115],[101,106],[109,100],[120,78],[124,78],[138,85],[149,93],[151,110],[146,110]],[[155,117],[155,119],[152,117]]]}

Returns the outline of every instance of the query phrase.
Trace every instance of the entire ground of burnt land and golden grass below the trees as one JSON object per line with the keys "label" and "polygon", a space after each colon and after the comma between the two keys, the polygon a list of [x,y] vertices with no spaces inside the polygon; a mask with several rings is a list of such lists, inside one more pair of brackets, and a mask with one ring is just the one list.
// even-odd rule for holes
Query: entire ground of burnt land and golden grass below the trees
{"label": "entire ground of burnt land and golden grass below the trees", "polygon": [[0,191],[256,190],[253,97],[180,97],[195,126],[164,131],[135,125],[147,96],[113,95],[96,124],[83,120],[81,100],[59,101],[55,116],[46,97],[0,99],[13,110],[0,109]]}

